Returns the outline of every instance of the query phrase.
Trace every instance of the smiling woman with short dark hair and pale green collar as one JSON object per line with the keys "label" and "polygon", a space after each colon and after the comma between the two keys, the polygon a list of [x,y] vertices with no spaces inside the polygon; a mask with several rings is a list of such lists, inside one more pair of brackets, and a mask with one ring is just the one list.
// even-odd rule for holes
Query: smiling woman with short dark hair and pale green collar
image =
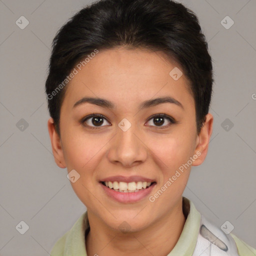
{"label": "smiling woman with short dark hair and pale green collar", "polygon": [[207,154],[212,82],[197,17],[180,3],[101,0],[61,27],[48,130],[87,210],[52,256],[255,253],[182,196]]}

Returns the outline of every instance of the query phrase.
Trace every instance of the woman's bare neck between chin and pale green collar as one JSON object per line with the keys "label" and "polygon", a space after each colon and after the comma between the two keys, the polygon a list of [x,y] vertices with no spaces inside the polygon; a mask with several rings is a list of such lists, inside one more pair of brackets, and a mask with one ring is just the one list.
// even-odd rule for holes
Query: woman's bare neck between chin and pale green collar
{"label": "woman's bare neck between chin and pale green collar", "polygon": [[87,234],[88,256],[167,255],[175,246],[185,223],[182,197],[171,212],[139,231],[123,233],[113,230],[88,211],[90,231]]}

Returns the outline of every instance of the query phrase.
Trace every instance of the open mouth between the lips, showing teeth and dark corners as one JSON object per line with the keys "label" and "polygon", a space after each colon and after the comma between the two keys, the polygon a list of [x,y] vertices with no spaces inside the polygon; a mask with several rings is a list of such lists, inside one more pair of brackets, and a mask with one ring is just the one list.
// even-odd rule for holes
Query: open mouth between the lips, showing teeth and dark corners
{"label": "open mouth between the lips, showing teeth and dark corners", "polygon": [[133,182],[118,182],[118,181],[100,181],[101,184],[104,186],[123,193],[131,193],[131,192],[138,192],[144,189],[147,189],[149,186],[156,184],[156,182],[146,182],[146,181],[133,181]]}

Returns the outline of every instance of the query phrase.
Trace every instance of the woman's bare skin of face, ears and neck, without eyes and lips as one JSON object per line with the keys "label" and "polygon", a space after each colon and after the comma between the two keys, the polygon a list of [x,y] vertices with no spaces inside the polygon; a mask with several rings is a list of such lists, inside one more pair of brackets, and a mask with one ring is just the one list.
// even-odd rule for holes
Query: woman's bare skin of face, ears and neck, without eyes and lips
{"label": "woman's bare skin of face, ears and neck, without eyes and lips", "polygon": [[[206,115],[198,135],[189,81],[184,74],[174,80],[169,75],[174,67],[182,70],[159,51],[124,47],[100,50],[67,85],[60,110],[60,137],[52,118],[48,120],[56,164],[66,167],[68,172],[75,169],[80,175],[70,184],[87,207],[88,256],[95,253],[164,256],[182,232],[185,223],[182,192],[191,166],[154,202],[150,202],[148,196],[135,203],[117,202],[105,194],[98,182],[112,175],[141,175],[156,181],[150,193],[153,195],[196,152],[200,152],[200,156],[191,165],[203,162],[213,117],[210,113]],[[83,96],[105,98],[116,108],[90,103],[72,108]],[[161,103],[138,110],[142,101],[160,96],[175,98],[183,108],[174,103]],[[84,125],[80,122],[91,113],[104,115],[102,124],[96,126],[93,118]],[[164,123],[158,126],[149,117],[159,113],[177,122],[171,124],[164,118]],[[125,132],[118,127],[123,118],[131,123]],[[86,124],[98,129],[86,128]],[[130,227],[127,232],[119,229],[123,221]]]}

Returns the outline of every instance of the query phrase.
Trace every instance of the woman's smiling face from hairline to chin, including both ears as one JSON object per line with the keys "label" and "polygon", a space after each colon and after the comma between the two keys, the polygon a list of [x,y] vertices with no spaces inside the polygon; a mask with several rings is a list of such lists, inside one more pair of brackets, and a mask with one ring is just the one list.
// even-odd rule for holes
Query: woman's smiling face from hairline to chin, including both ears
{"label": "woman's smiling face from hairline to chin, including both ears", "polygon": [[60,138],[48,121],[56,163],[73,171],[88,213],[111,228],[126,221],[140,230],[175,211],[191,165],[206,155],[212,115],[198,135],[189,81],[173,79],[175,67],[182,71],[160,52],[100,50],[67,85]]}

